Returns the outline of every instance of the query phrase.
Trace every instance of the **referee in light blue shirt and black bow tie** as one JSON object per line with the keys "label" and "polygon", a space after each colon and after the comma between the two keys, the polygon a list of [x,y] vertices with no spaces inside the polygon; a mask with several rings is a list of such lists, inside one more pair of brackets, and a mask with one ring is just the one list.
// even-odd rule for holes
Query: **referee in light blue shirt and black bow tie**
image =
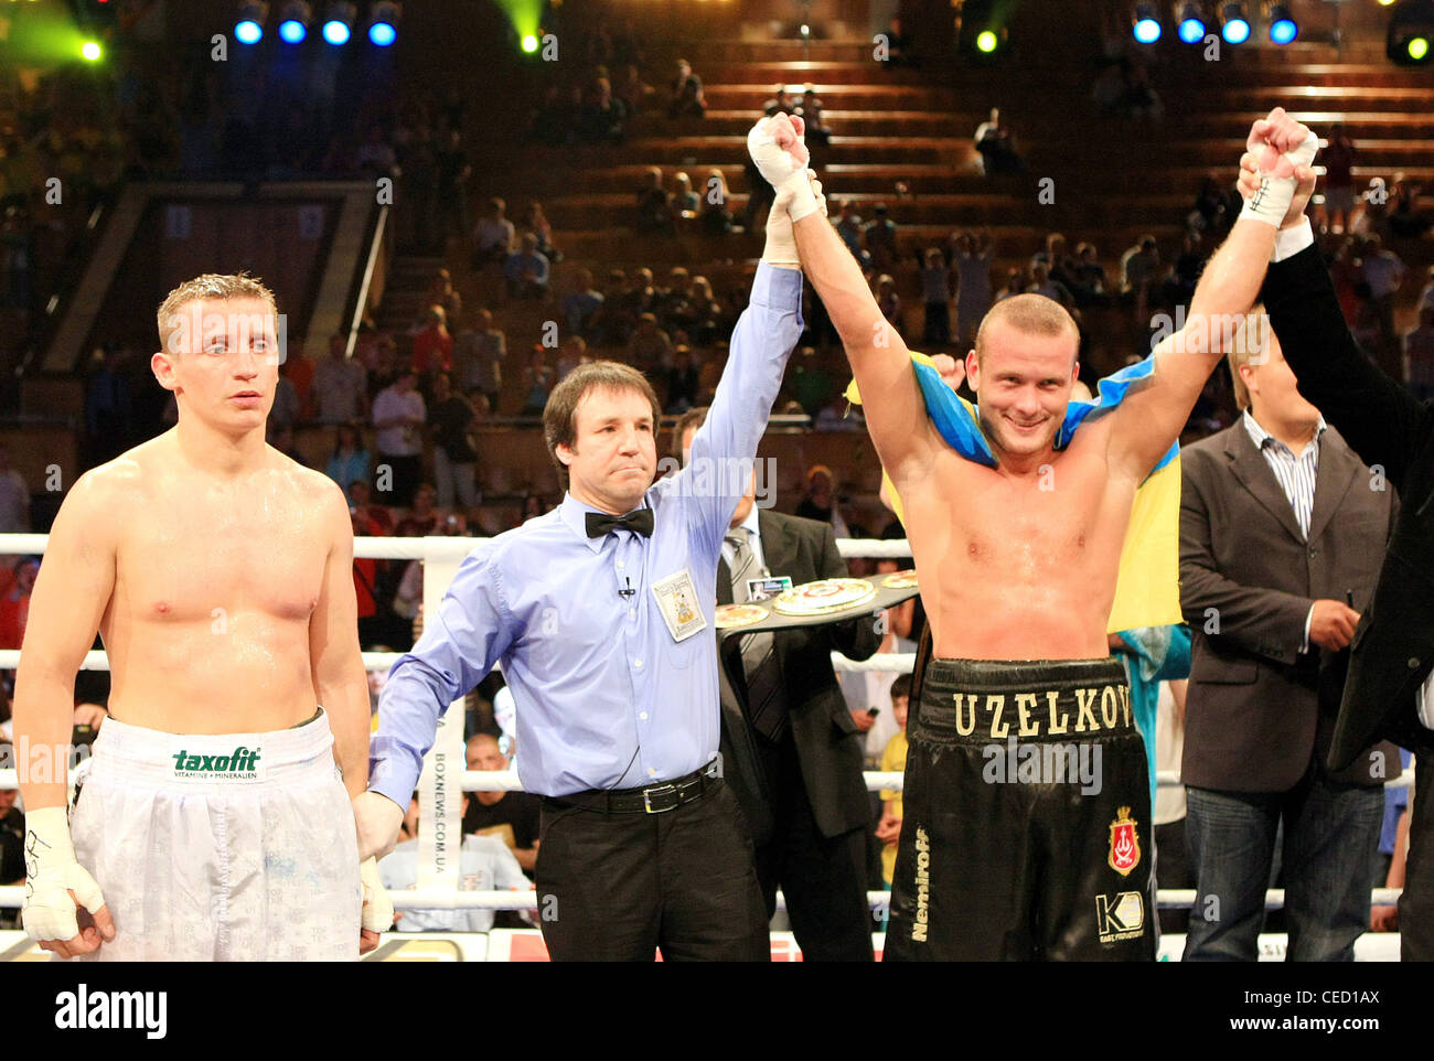
{"label": "referee in light blue shirt and black bow tie", "polygon": [[555,961],[769,953],[717,760],[711,627],[723,535],[802,333],[792,221],[779,201],[691,465],[654,485],[652,389],[628,366],[578,367],[543,410],[562,505],[469,553],[379,701],[356,810],[361,846],[381,850],[439,714],[502,662],[519,779],[543,797],[536,885]]}

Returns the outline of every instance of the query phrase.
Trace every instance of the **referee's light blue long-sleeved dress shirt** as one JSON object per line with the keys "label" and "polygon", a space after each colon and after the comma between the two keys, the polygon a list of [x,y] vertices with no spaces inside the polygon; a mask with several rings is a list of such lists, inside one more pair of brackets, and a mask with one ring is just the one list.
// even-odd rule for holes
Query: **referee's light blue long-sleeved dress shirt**
{"label": "referee's light blue long-sleeved dress shirt", "polygon": [[[467,555],[379,698],[371,790],[409,806],[439,715],[499,661],[516,704],[518,776],[531,793],[660,784],[713,760],[717,559],[802,334],[800,305],[797,270],[757,265],[691,460],[644,498],[651,538],[625,529],[588,538],[584,516],[595,509],[569,493]],[[684,571],[707,629],[678,642],[652,584]]]}

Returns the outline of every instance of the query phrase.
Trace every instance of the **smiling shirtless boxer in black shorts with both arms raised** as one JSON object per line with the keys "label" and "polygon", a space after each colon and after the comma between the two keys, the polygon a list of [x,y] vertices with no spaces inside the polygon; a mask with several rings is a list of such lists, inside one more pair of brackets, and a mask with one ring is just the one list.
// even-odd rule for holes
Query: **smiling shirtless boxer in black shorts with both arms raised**
{"label": "smiling shirtless boxer in black shorts with both arms raised", "polygon": [[[789,136],[774,133],[779,145]],[[889,958],[1154,958],[1146,761],[1106,624],[1136,489],[1179,437],[1223,356],[1226,324],[1255,301],[1292,173],[1314,145],[1283,110],[1253,125],[1260,202],[1207,264],[1189,323],[1154,350],[1153,374],[1061,449],[1076,324],[1040,295],[997,304],[967,356],[989,465],[936,433],[909,351],[832,227],[794,225],[905,505],[935,650],[909,724]],[[773,186],[802,195],[789,159],[754,155]],[[987,783],[982,750],[1010,738],[1101,751],[1098,794]]]}

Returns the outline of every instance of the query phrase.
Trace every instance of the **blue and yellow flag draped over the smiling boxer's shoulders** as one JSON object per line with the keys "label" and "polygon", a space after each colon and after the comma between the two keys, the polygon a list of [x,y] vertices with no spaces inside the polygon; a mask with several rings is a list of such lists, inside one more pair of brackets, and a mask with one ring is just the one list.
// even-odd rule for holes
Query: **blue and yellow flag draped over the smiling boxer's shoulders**
{"label": "blue and yellow flag draped over the smiling boxer's shoulders", "polygon": [[[981,432],[977,406],[946,386],[926,354],[911,351],[916,383],[926,401],[926,416],[936,433],[967,460],[995,467],[995,455]],[[1154,374],[1154,356],[1129,364],[1096,384],[1094,401],[1071,401],[1065,420],[1055,433],[1055,449],[1065,449],[1076,429],[1087,419],[1108,413],[1129,390]],[[846,399],[859,406],[862,396],[856,380],[846,389]],[[892,498],[896,518],[906,522],[896,487],[882,469],[882,482]],[[1120,551],[1116,601],[1106,631],[1114,634],[1134,627],[1164,627],[1182,622],[1180,614],[1180,444],[1174,443],[1136,490],[1130,510],[1126,543]]]}

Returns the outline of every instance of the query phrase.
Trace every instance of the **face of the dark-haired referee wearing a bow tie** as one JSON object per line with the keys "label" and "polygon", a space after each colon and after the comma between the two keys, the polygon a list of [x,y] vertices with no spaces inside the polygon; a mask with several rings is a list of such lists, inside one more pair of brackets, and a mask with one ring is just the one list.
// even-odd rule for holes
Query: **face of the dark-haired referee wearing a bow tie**
{"label": "face of the dark-haired referee wearing a bow tie", "polygon": [[556,447],[572,496],[608,512],[631,512],[657,472],[651,403],[637,390],[594,387],[578,401],[574,419],[572,444]]}

